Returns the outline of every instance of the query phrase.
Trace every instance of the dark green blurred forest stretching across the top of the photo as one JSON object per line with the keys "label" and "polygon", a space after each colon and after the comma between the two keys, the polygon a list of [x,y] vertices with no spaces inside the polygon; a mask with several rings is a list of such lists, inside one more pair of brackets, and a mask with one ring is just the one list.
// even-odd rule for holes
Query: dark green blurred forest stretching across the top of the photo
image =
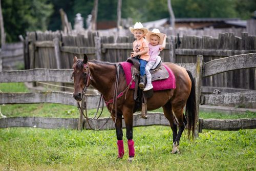
{"label": "dark green blurred forest stretching across the top of the photo", "polygon": [[[26,31],[60,30],[59,9],[63,9],[69,22],[75,14],[84,19],[92,12],[93,0],[2,0],[6,41],[18,41]],[[172,0],[176,18],[251,18],[256,0]],[[122,18],[148,22],[169,17],[167,0],[123,0]],[[98,2],[98,21],[117,19],[117,0]]]}

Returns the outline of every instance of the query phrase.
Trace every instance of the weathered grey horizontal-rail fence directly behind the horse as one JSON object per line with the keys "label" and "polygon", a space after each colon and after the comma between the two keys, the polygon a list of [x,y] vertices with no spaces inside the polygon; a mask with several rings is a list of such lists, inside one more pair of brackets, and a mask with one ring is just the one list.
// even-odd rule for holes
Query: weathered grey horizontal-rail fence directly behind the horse
{"label": "weathered grey horizontal-rail fence directly behind the horse", "polygon": [[[256,118],[253,119],[199,119],[199,103],[201,104],[243,104],[256,102],[256,91],[221,93],[221,94],[201,94],[200,82],[202,78],[209,77],[218,73],[255,68],[256,53],[236,55],[221,59],[212,60],[204,63],[203,57],[198,56],[196,63],[179,63],[193,73],[196,78],[196,95],[197,95],[197,134],[202,129],[210,130],[239,130],[255,129]],[[0,82],[24,82],[24,81],[50,81],[50,82],[73,82],[70,80],[71,69],[31,69],[25,71],[2,71],[0,72]],[[15,75],[15,77],[14,77]],[[95,101],[99,100],[98,95],[87,96],[88,109],[97,107]],[[72,93],[66,92],[37,92],[37,93],[0,93],[0,104],[16,103],[60,103],[76,105]],[[99,127],[107,118],[93,120],[91,125]],[[83,120],[86,129],[90,129],[86,120]],[[57,129],[65,127],[77,129],[78,119],[62,118],[40,118],[40,117],[11,117],[0,119],[0,127],[41,127],[47,129]],[[162,113],[150,113],[147,120],[141,119],[139,115],[134,116],[134,126],[146,125],[169,125]],[[123,125],[124,126],[124,125]],[[114,129],[112,121],[109,121],[105,129]]]}

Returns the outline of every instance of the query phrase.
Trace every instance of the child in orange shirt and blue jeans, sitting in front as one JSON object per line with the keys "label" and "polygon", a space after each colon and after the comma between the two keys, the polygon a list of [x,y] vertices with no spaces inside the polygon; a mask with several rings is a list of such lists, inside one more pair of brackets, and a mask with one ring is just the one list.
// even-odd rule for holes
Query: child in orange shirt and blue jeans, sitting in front
{"label": "child in orange shirt and blue jeans, sitting in front", "polygon": [[133,42],[133,51],[131,57],[137,57],[140,62],[140,89],[145,87],[145,67],[147,61],[150,59],[148,54],[148,42],[144,39],[144,36],[147,34],[148,29],[144,28],[143,25],[139,22],[136,22],[134,27],[130,27],[130,31],[133,33],[136,40]]}

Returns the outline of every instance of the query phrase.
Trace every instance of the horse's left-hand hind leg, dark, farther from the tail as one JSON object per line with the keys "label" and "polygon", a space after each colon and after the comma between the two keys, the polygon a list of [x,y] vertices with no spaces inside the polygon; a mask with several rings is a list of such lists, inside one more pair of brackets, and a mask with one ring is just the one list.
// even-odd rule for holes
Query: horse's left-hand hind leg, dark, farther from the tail
{"label": "horse's left-hand hind leg, dark, farther from the tail", "polygon": [[166,103],[163,106],[163,113],[164,113],[164,116],[170,122],[170,128],[173,131],[173,142],[175,142],[175,139],[177,137],[177,130],[178,130],[178,128],[177,128],[177,123],[176,123],[175,118],[174,118],[172,104],[170,102]]}

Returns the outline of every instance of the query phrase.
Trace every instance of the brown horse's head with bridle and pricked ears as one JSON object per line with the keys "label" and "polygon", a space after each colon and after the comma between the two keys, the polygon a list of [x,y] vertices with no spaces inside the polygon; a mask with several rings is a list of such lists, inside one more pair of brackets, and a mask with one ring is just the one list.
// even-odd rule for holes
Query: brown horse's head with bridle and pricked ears
{"label": "brown horse's head with bridle and pricked ears", "polygon": [[86,91],[87,87],[90,84],[90,70],[88,66],[88,57],[84,54],[83,60],[77,59],[74,56],[74,65],[73,65],[73,73],[74,77],[74,93],[73,97],[80,101],[82,100],[82,94]]}

